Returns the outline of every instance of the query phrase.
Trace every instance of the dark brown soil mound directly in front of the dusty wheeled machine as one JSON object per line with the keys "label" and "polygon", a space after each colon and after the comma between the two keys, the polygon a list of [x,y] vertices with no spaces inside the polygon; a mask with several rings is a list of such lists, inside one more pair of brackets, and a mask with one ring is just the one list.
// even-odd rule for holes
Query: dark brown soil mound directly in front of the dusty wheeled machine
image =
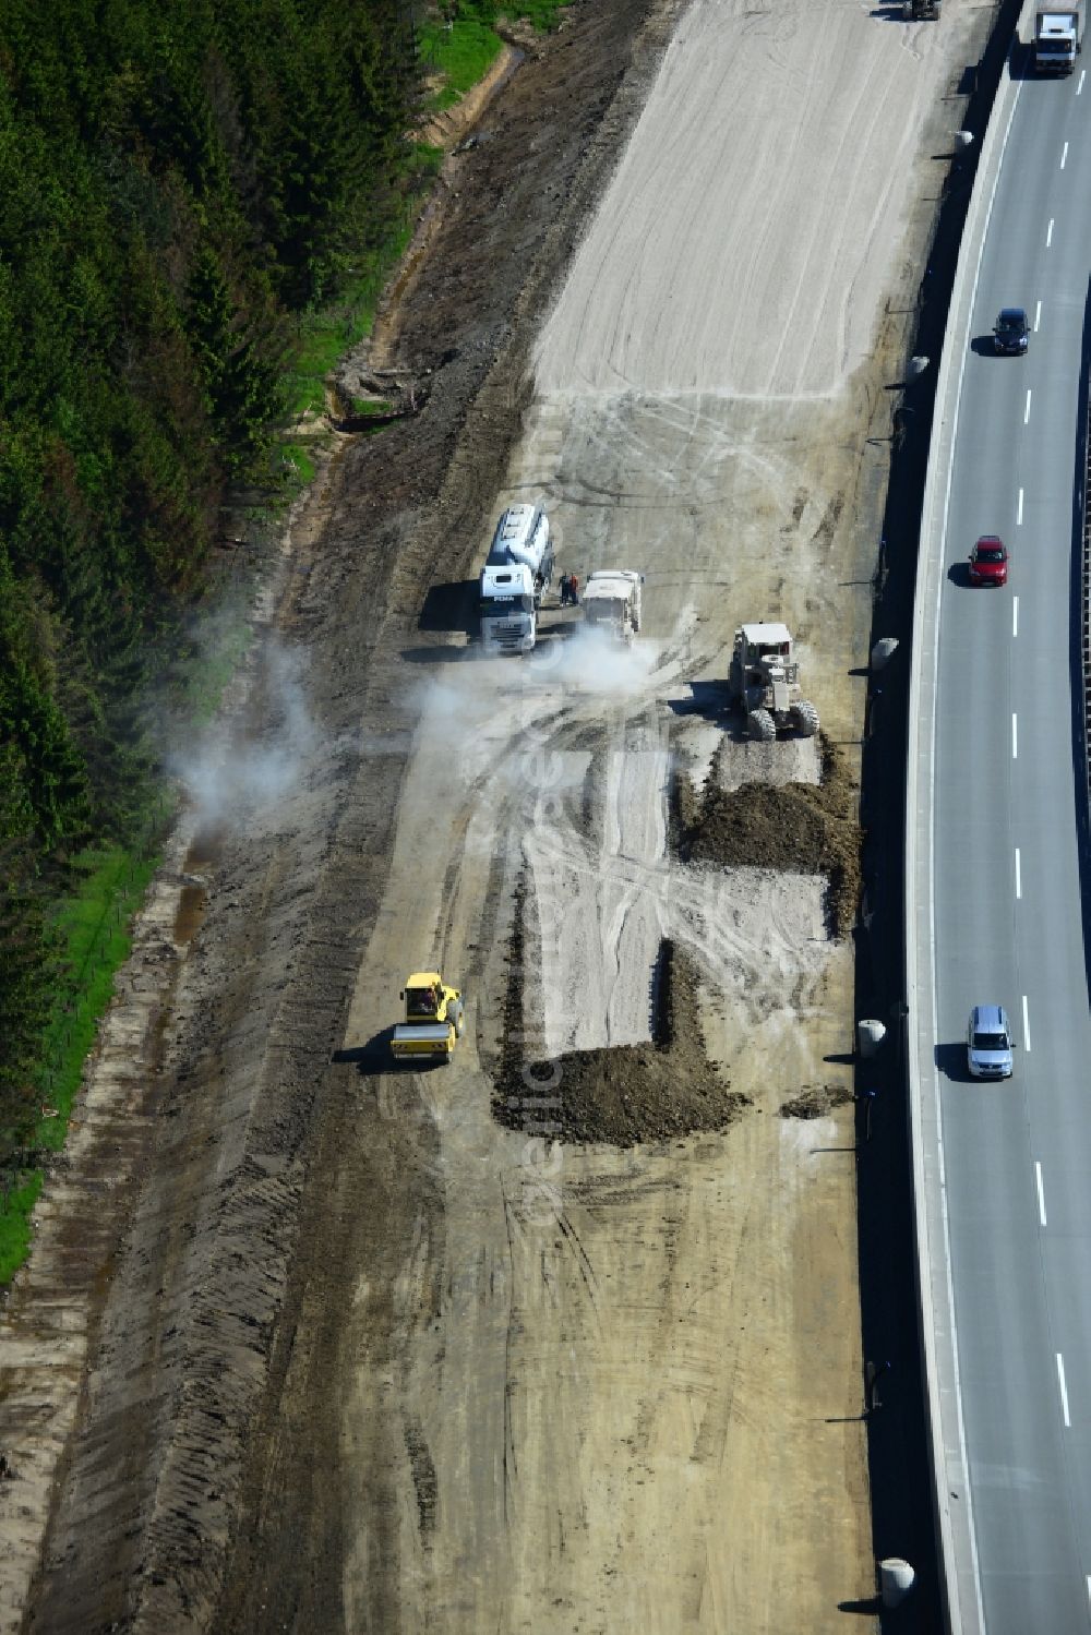
{"label": "dark brown soil mound directly in front of the dusty wheeled machine", "polygon": [[823,734],[821,783],[744,783],[723,790],[710,780],[703,800],[680,780],[676,800],[684,862],[777,868],[829,880],[829,925],[844,937],[860,901],[860,826],[855,785],[839,749]]}

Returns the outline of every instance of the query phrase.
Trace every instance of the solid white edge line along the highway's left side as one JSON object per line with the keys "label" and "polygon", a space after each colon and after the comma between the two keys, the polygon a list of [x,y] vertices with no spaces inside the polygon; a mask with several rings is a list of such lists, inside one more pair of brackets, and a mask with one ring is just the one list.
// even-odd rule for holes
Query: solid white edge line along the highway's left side
{"label": "solid white edge line along the highway's left side", "polygon": [[[1012,47],[1012,51],[1014,51],[1014,47]],[[1008,57],[1008,72],[1011,75],[1011,52],[1009,52],[1009,57]],[[1009,80],[1009,83],[1014,83],[1014,90],[1012,90],[1012,98],[1011,98],[1011,108],[1008,110],[1008,124],[1004,126],[1004,134],[1003,134],[1001,144],[999,144],[999,157],[996,160],[996,170],[993,173],[993,185],[990,188],[988,206],[985,209],[985,222],[981,226],[981,242],[978,244],[977,267],[973,268],[973,284],[970,288],[970,302],[968,302],[968,319],[970,320],[973,319],[973,309],[977,306],[978,281],[981,278],[981,258],[985,255],[985,240],[988,239],[988,226],[990,226],[990,221],[993,219],[993,204],[996,203],[996,183],[999,180],[999,173],[1001,173],[1003,165],[1004,165],[1004,154],[1008,150],[1008,137],[1011,136],[1011,126],[1014,123],[1016,108],[1019,105],[1021,82],[1011,82]],[[1003,92],[1003,82],[1001,82],[1001,92]],[[990,132],[986,131],[986,141],[988,141],[988,134]],[[973,208],[973,201],[972,201],[970,208]],[[967,216],[968,214],[970,213],[967,213]],[[1050,232],[1052,232],[1052,224],[1050,224]],[[955,275],[955,283],[957,283],[957,275]],[[937,692],[939,692],[939,613],[941,613],[941,590],[942,590],[942,564],[947,559],[947,518],[949,518],[949,512],[950,512],[950,481],[952,481],[952,474],[954,474],[954,451],[955,451],[955,440],[957,440],[957,432],[959,432],[959,410],[962,407],[962,386],[963,386],[963,381],[965,381],[965,373],[967,373],[967,355],[965,355],[965,350],[963,350],[962,356],[959,360],[959,384],[955,387],[955,405],[954,405],[954,414],[952,414],[950,456],[947,459],[947,471],[945,471],[945,476],[944,476],[944,482],[945,482],[945,486],[944,486],[944,510],[942,510],[942,525],[941,525],[941,538],[939,538],[941,572],[936,576],[936,611],[932,615],[932,698],[931,698],[931,710],[929,710],[929,718],[927,718],[929,719],[927,919],[929,919],[929,948],[931,948],[931,973],[932,973],[932,1030],[936,1030],[937,1019],[939,1019],[939,971],[936,970],[936,711],[937,711]],[[942,383],[942,365],[941,365],[941,383]],[[939,394],[939,389],[937,389],[937,404],[939,402],[941,402],[941,394]],[[932,438],[936,438],[936,428],[932,428]],[[931,463],[931,450],[929,450],[929,463]],[[916,773],[913,773],[913,778],[916,780]],[[906,878],[908,878],[908,875],[906,875]],[[913,973],[913,976],[916,976],[916,973]],[[955,1422],[957,1422],[957,1427],[959,1427],[959,1462],[960,1462],[962,1476],[963,1476],[962,1485],[960,1485],[962,1486],[962,1514],[963,1514],[963,1519],[965,1519],[967,1537],[970,1540],[970,1571],[972,1571],[972,1576],[973,1576],[973,1601],[975,1601],[975,1610],[977,1610],[977,1622],[978,1622],[978,1630],[983,1630],[985,1628],[985,1597],[981,1594],[981,1561],[980,1561],[980,1557],[978,1557],[978,1535],[977,1535],[977,1525],[975,1525],[975,1521],[973,1521],[973,1483],[970,1481],[970,1460],[968,1460],[968,1455],[967,1455],[967,1421],[965,1421],[965,1413],[963,1413],[963,1408],[962,1408],[962,1372],[960,1372],[960,1367],[959,1367],[959,1329],[955,1326],[955,1277],[954,1277],[954,1269],[952,1269],[952,1264],[950,1264],[950,1212],[947,1208],[947,1166],[945,1166],[945,1159],[944,1159],[944,1123],[942,1123],[942,1110],[941,1110],[941,1097],[939,1097],[939,1074],[936,1071],[932,1071],[932,1074],[931,1074],[931,1086],[932,1086],[934,1120],[936,1120],[936,1162],[937,1162],[937,1169],[939,1169],[939,1213],[941,1213],[942,1234],[944,1234],[944,1282],[947,1285],[947,1318],[949,1318],[949,1323],[950,1323],[952,1386],[954,1386],[954,1401],[955,1401]],[[923,1279],[923,1282],[924,1282],[924,1279]],[[924,1336],[926,1378],[927,1378],[929,1347],[932,1347],[931,1354],[934,1357],[934,1341],[929,1339],[929,1336],[926,1333],[926,1336]],[[939,1382],[936,1382],[936,1386],[939,1388]],[[936,1403],[934,1403],[934,1398],[932,1398],[931,1391],[929,1391],[929,1411],[932,1413],[932,1416],[936,1416],[936,1413],[937,1413]],[[934,1457],[934,1460],[939,1460],[942,1445],[944,1445],[942,1444],[942,1437],[937,1440],[936,1434],[932,1432],[932,1457]],[[942,1475],[941,1475],[939,1468],[936,1470],[936,1475],[941,1478],[941,1489],[942,1489]],[[941,1535],[941,1542],[944,1542],[944,1539],[949,1537],[949,1534],[950,1534],[950,1514],[944,1511],[942,1499],[941,1499],[941,1506],[939,1507],[941,1507],[939,1535]],[[950,1581],[950,1573],[954,1571],[954,1563],[952,1561],[945,1563],[945,1571],[947,1571],[947,1586],[950,1586],[950,1583],[952,1583]],[[949,1619],[950,1619],[952,1635],[959,1635],[959,1632],[962,1630],[962,1606],[959,1602],[957,1591],[955,1591],[955,1601],[954,1601],[954,1604],[949,1601],[949,1597],[944,1597],[944,1599],[947,1599],[947,1614],[949,1614]]]}

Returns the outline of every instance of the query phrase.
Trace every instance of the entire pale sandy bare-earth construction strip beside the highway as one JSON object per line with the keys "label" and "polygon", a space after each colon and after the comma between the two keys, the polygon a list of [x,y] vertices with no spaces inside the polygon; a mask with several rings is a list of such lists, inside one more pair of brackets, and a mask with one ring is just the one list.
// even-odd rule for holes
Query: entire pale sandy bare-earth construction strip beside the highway
{"label": "entire pale sandy bare-earth construction strip beside the highway", "polygon": [[[859,737],[873,546],[855,530],[882,394],[865,360],[947,52],[860,5],[697,0],[545,325],[492,508],[545,495],[561,567],[644,572],[644,639],[607,664],[546,616],[522,667],[448,669],[491,700],[471,736],[507,767],[509,811],[496,773],[476,786],[455,853],[440,845],[450,912],[438,878],[424,911],[414,813],[443,796],[420,731],[347,1043],[379,1024],[406,921],[447,965],[502,935],[502,914],[474,924],[499,855],[509,886],[528,880],[528,1059],[648,1038],[671,935],[705,978],[710,1056],[752,1105],[723,1135],[617,1154],[491,1128],[473,1050],[429,1081],[466,1292],[409,1347],[399,1393],[437,1494],[427,1547],[401,1509],[402,1619],[772,1635],[836,1628],[837,1602],[872,1591],[852,1109],[777,1117],[803,1087],[847,1087],[823,1058],[851,1050],[851,953],[821,880],[672,862],[667,780],[707,764],[710,721],[723,732],[744,618],[792,626],[828,731],[849,754]],[[805,754],[783,759],[806,777]],[[754,760],[730,746],[721,780]],[[494,1027],[478,1009],[489,1056]],[[368,1375],[347,1436],[375,1408]]]}

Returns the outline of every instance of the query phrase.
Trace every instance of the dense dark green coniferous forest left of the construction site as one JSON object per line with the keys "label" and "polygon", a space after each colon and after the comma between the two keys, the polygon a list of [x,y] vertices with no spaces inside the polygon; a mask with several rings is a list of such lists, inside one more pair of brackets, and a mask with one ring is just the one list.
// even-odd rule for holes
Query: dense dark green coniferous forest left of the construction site
{"label": "dense dark green coniferous forest left of the construction site", "polygon": [[298,317],[404,213],[420,77],[406,0],[0,0],[0,1161],[49,904],[137,822],[137,701],[265,481]]}

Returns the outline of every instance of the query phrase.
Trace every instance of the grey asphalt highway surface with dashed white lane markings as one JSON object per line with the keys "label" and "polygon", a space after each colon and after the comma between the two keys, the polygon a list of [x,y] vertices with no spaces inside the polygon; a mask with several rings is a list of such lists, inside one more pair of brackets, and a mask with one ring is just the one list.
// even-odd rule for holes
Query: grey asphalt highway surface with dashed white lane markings
{"label": "grey asphalt highway surface with dashed white lane markings", "polygon": [[[1091,52],[1088,54],[1091,62]],[[959,1382],[990,1635],[1091,1627],[1091,1015],[1081,912],[1080,376],[1091,77],[1021,83],[973,296],[936,659],[931,937]],[[993,322],[1022,306],[1024,358]],[[975,538],[1009,549],[972,589]],[[1014,1074],[972,1081],[973,1004]]]}

